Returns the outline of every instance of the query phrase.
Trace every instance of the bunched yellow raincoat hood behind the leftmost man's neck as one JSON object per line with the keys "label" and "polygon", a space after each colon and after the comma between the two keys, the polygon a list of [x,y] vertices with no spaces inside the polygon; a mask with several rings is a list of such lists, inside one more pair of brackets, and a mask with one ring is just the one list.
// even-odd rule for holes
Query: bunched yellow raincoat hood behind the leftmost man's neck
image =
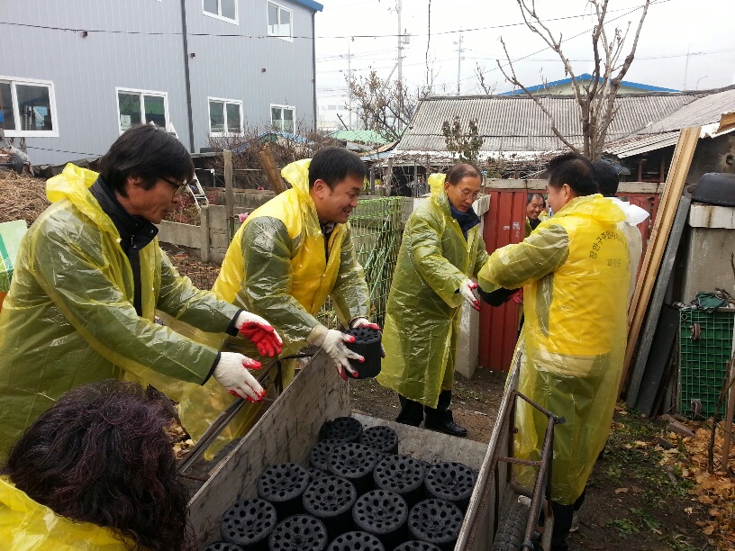
{"label": "bunched yellow raincoat hood behind the leftmost man's neck", "polygon": [[68,163],[58,176],[46,182],[46,196],[50,203],[61,203],[68,200],[100,230],[119,237],[113,221],[100,208],[89,188],[95,183],[99,174],[94,170],[77,167]]}

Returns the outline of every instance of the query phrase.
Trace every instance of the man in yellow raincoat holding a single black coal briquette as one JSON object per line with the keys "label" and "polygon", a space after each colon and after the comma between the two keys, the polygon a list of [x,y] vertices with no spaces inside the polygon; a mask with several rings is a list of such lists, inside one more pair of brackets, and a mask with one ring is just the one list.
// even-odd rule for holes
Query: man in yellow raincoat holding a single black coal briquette
{"label": "man in yellow raincoat holding a single black coal briquette", "polygon": [[[355,254],[349,214],[358,204],[367,169],[346,149],[326,148],[312,159],[285,167],[292,189],[250,213],[232,239],[212,288],[220,299],[268,315],[284,339],[282,356],[304,345],[319,346],[342,378],[353,337],[329,330],[316,319],[328,296],[345,327],[377,325],[367,320],[369,294]],[[283,384],[294,378],[295,363],[281,363]],[[250,408],[250,417],[257,408]],[[245,422],[245,421],[243,421]]]}

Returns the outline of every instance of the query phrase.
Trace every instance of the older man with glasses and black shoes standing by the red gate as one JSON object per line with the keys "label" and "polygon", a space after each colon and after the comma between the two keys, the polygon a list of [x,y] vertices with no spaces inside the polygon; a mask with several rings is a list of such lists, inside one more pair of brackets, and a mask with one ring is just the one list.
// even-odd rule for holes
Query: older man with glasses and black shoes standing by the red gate
{"label": "older man with glasses and black shoes standing by the red gate", "polygon": [[398,393],[398,422],[467,436],[449,410],[459,331],[459,306],[479,310],[470,279],[485,264],[475,167],[458,164],[429,176],[431,198],[411,213],[386,305],[386,360],[378,383]]}

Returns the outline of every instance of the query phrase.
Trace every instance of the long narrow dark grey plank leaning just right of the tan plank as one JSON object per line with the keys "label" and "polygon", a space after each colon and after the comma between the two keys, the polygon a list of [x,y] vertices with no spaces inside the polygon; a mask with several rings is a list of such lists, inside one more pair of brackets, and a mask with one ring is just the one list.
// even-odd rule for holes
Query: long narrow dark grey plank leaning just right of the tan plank
{"label": "long narrow dark grey plank leaning just right of the tan plank", "polygon": [[[658,327],[658,314],[661,312],[661,307],[664,304],[664,297],[667,292],[668,282],[671,279],[671,273],[674,269],[676,251],[678,251],[679,249],[679,243],[681,242],[682,233],[684,232],[686,219],[689,217],[689,206],[691,205],[691,203],[692,196],[687,194],[679,200],[679,206],[678,209],[676,209],[676,217],[674,218],[674,223],[671,227],[671,233],[668,238],[666,251],[664,252],[663,263],[661,264],[661,268],[658,270],[658,277],[656,278],[656,288],[649,303],[649,312],[646,316],[646,325],[643,328],[643,333],[640,337],[640,343],[632,367],[631,381],[628,384],[627,402],[630,407],[633,407],[638,399],[640,382],[643,379],[643,374],[645,373],[646,366],[649,362],[649,352],[651,349],[651,344],[653,343],[654,333],[656,332],[656,328]],[[663,375],[663,373],[661,373],[660,375]],[[656,397],[656,393],[654,393],[653,397]],[[651,407],[653,406],[652,401],[650,405]]]}

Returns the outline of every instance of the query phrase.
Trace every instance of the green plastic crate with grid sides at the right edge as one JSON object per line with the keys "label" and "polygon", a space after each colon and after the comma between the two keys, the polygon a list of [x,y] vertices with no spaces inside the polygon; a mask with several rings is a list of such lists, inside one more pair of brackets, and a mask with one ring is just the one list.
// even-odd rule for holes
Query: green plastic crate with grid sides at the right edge
{"label": "green plastic crate with grid sides at the right edge", "polygon": [[[699,338],[695,339],[699,326]],[[714,415],[722,380],[732,357],[732,331],[735,309],[712,313],[684,309],[679,313],[679,412],[695,417],[696,402],[702,404],[700,415]],[[726,410],[720,408],[720,419]]]}

